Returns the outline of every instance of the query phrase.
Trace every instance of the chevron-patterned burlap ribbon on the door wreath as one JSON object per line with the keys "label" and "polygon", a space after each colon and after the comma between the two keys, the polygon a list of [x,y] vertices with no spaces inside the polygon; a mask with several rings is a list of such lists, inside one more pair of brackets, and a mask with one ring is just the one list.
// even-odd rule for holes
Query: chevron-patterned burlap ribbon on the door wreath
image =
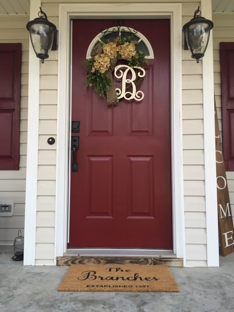
{"label": "chevron-patterned burlap ribbon on the door wreath", "polygon": [[[96,55],[102,54],[103,53],[103,48],[100,43],[96,44],[95,47],[93,48],[91,52],[91,56],[94,57]],[[114,71],[117,63],[117,58],[111,59],[111,66],[109,67],[108,71],[105,73],[108,78],[111,80],[110,86],[107,88],[106,93],[107,93],[107,104],[108,105],[117,105],[118,99],[117,99],[117,93],[116,93],[116,86],[115,82],[112,76],[112,71]]]}

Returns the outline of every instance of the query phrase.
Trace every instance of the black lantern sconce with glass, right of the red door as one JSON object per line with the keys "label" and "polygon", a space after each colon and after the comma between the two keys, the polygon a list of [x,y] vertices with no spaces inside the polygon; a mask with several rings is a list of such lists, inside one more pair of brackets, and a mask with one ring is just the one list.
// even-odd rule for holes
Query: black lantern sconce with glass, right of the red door
{"label": "black lantern sconce with glass, right of the red door", "polygon": [[196,59],[196,63],[199,63],[199,59],[205,54],[210,30],[214,26],[212,21],[200,16],[201,11],[199,8],[198,6],[198,9],[194,12],[194,18],[183,26],[185,50],[190,50],[192,58]]}

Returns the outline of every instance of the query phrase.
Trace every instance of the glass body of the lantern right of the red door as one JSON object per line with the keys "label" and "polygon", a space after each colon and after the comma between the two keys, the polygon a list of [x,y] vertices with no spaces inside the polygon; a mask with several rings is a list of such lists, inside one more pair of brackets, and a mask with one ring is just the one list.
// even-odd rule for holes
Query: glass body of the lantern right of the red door
{"label": "glass body of the lantern right of the red door", "polygon": [[203,54],[209,40],[209,25],[205,23],[191,25],[186,32],[186,39],[190,43],[189,49],[193,54]]}

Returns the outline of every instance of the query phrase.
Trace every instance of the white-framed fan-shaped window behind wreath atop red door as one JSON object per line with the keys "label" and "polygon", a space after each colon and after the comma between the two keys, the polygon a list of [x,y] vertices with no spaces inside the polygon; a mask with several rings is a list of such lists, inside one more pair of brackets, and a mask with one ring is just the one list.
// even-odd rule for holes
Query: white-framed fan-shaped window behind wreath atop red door
{"label": "white-framed fan-shaped window behind wreath atop red door", "polygon": [[111,27],[99,33],[89,44],[86,59],[91,58],[92,49],[98,42],[113,41],[118,36],[124,38],[128,37],[129,35],[133,40],[136,40],[138,42],[138,44],[136,45],[136,50],[142,51],[146,55],[146,58],[148,59],[154,58],[152,46],[144,35],[142,35],[140,32],[132,28],[120,26],[120,27]]}

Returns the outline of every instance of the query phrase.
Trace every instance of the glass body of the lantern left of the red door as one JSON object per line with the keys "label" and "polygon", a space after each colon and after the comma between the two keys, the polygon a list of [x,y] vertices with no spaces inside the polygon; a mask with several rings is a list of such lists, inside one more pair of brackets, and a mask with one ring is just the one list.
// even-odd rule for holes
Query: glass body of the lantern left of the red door
{"label": "glass body of the lantern left of the red door", "polygon": [[44,24],[33,24],[30,27],[30,38],[36,54],[48,54],[53,43],[53,29]]}

